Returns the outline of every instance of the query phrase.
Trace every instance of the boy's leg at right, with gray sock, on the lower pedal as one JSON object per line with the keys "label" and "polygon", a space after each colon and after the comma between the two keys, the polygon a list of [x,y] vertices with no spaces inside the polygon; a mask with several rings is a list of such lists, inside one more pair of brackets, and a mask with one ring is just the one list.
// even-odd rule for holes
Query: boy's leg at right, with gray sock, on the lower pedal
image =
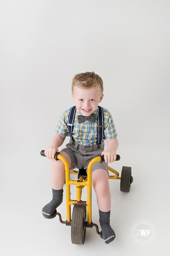
{"label": "boy's leg at right, with gray sock, on the lower pedal", "polygon": [[104,242],[109,244],[115,239],[115,232],[110,226],[111,196],[108,182],[108,172],[97,169],[92,172],[92,185],[97,197],[99,207],[99,222]]}

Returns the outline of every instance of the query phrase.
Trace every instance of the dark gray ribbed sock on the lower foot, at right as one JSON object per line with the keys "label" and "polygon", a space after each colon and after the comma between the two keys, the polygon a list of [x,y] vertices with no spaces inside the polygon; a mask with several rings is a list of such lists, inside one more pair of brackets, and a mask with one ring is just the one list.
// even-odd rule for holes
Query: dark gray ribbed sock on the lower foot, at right
{"label": "dark gray ribbed sock on the lower foot, at right", "polygon": [[110,226],[110,211],[109,212],[101,212],[99,210],[99,222],[102,230],[102,236],[104,242],[109,244],[115,239],[115,232]]}

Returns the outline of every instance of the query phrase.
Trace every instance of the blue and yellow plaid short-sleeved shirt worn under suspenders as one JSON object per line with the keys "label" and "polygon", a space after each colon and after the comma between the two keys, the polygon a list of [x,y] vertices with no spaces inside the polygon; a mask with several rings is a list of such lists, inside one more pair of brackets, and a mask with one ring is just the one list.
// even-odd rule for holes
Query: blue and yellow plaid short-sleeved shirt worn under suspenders
{"label": "blue and yellow plaid short-sleeved shirt worn under suspenders", "polygon": [[[68,130],[68,118],[70,109],[67,109],[63,112],[63,115],[60,118],[60,121],[57,125],[57,128],[55,132],[57,132],[59,135],[66,135],[70,136],[69,130]],[[79,112],[76,109],[75,119],[74,119],[74,128],[73,128],[73,137],[74,140],[77,141],[82,146],[92,146],[93,144],[97,144],[97,116],[98,116],[99,108],[97,108],[93,114],[96,115],[96,122],[92,123],[90,121],[84,121],[83,123],[79,124],[77,120],[78,115],[82,115],[81,112]],[[117,136],[115,125],[112,119],[112,116],[110,112],[103,108],[103,116],[104,116],[104,135],[103,135],[103,141],[106,139],[113,139]]]}

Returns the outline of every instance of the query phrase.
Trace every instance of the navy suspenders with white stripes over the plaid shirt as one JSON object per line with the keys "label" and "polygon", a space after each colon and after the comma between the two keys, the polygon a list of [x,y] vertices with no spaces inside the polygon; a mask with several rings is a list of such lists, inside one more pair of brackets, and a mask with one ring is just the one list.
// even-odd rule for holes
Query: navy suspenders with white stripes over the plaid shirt
{"label": "navy suspenders with white stripes over the plaid shirt", "polygon": [[[100,145],[102,140],[103,140],[103,131],[104,131],[104,118],[103,118],[103,108],[98,106],[99,108],[99,114],[97,117],[97,122],[98,122],[98,127],[97,127],[97,144]],[[72,132],[73,132],[73,123],[74,123],[74,118],[75,118],[75,114],[76,114],[76,106],[72,107],[70,109],[70,113],[69,113],[69,119],[68,119],[68,129],[69,129],[69,134],[70,134],[70,138],[72,140],[72,143],[74,144],[74,138],[72,136]]]}

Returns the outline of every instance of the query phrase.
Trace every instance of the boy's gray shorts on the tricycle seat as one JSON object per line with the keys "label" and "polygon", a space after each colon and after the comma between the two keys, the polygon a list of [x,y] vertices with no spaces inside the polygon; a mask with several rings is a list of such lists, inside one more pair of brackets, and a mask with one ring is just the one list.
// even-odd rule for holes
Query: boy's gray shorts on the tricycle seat
{"label": "boy's gray shorts on the tricycle seat", "polygon": [[[87,165],[89,162],[96,156],[101,155],[101,153],[104,151],[104,142],[101,143],[101,145],[92,145],[90,147],[84,147],[79,145],[75,141],[75,145],[72,144],[72,141],[70,140],[70,143],[66,144],[66,148],[63,148],[60,150],[60,152],[63,151],[67,153],[70,156],[71,159],[71,167],[70,170],[78,168],[78,169],[85,169],[87,170]],[[96,162],[93,164],[92,172],[97,169],[105,169],[108,172],[107,169],[107,163],[102,162]]]}

